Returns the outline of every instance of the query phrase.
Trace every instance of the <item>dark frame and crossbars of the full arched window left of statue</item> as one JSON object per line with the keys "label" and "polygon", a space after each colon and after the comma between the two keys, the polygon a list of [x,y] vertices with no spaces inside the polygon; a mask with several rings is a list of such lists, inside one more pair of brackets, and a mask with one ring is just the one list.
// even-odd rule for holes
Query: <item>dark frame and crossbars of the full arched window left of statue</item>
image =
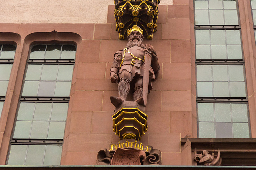
{"label": "dark frame and crossbars of the full arched window left of statue", "polygon": [[[77,51],[77,45],[75,45],[75,43],[72,44],[72,43],[62,43],[62,42],[55,42],[55,41],[54,42],[49,42],[49,43],[42,42],[42,43],[36,43],[36,44],[31,45],[30,49],[29,49],[28,56],[30,56],[31,49],[36,45],[55,45],[55,44],[62,45],[62,46],[63,45],[73,45],[73,46],[75,46],[76,51]],[[62,47],[61,47],[61,49],[62,49]],[[64,133],[63,133],[63,138],[62,139],[33,139],[33,138],[32,139],[31,138],[15,139],[15,138],[13,138],[14,130],[15,130],[16,122],[17,122],[18,111],[19,111],[19,107],[20,107],[21,102],[27,102],[27,103],[69,103],[69,101],[70,101],[69,96],[60,96],[60,97],[55,97],[55,96],[47,96],[47,97],[45,97],[45,96],[22,96],[22,91],[23,91],[23,87],[24,87],[24,83],[25,83],[25,75],[26,75],[29,64],[75,65],[75,59],[30,59],[28,57],[27,62],[26,62],[26,68],[25,68],[25,73],[24,73],[24,78],[23,78],[23,83],[22,83],[22,90],[21,90],[21,94],[20,94],[20,99],[19,99],[18,108],[17,108],[17,111],[16,111],[17,113],[16,113],[14,126],[13,126],[13,130],[12,130],[12,134],[11,134],[11,139],[10,139],[10,145],[9,145],[9,151],[8,151],[8,155],[7,155],[6,164],[8,164],[9,155],[10,155],[10,151],[11,151],[11,145],[27,145],[26,152],[28,152],[29,145],[38,145],[38,146],[39,145],[41,145],[41,146],[44,145],[45,146],[45,151],[44,151],[43,162],[42,162],[42,163],[44,163],[44,158],[45,158],[45,154],[46,154],[46,147],[48,145],[63,146],[63,143],[64,143]],[[67,124],[67,120],[65,120],[65,124]],[[49,125],[48,125],[48,129],[49,129]],[[27,153],[26,153],[26,156],[25,156],[25,161],[26,161],[26,157],[27,157]],[[25,162],[24,162],[24,165],[25,165]]]}

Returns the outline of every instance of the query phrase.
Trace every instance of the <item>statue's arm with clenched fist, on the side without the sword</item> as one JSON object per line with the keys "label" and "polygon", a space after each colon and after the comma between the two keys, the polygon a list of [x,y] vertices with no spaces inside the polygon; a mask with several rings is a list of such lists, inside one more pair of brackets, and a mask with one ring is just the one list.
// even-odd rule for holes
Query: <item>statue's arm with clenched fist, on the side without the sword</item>
{"label": "statue's arm with clenched fist, on the side without the sword", "polygon": [[120,69],[120,64],[122,61],[122,50],[117,51],[114,54],[114,59],[113,59],[113,63],[110,69],[110,80],[111,83],[116,83],[117,79],[118,79],[118,72]]}

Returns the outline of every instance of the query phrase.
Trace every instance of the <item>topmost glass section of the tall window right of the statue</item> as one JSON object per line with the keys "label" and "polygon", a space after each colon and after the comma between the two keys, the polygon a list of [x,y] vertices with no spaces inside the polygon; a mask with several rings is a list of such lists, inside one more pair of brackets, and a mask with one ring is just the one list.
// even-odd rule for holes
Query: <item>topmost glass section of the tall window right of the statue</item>
{"label": "topmost glass section of the tall window right of the statue", "polygon": [[238,25],[236,1],[195,0],[195,25]]}

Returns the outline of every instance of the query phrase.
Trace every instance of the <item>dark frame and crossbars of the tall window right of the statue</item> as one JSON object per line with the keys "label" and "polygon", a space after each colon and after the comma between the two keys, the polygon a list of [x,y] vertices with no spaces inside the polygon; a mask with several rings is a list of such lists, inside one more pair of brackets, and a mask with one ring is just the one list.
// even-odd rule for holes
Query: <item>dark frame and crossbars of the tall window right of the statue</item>
{"label": "dark frame and crossbars of the tall window right of the statue", "polygon": [[[195,20],[195,0],[194,2],[194,35],[195,35],[195,44],[196,44],[196,30],[239,30],[240,31],[240,40],[242,47],[242,60],[214,60],[214,59],[196,59],[195,66],[197,65],[243,65],[243,75],[245,78],[245,93],[246,97],[198,97],[197,88],[196,88],[196,113],[197,113],[197,137],[199,138],[199,120],[198,120],[198,103],[246,103],[247,104],[247,115],[248,115],[248,126],[249,126],[249,137],[251,138],[251,128],[250,128],[250,117],[249,117],[249,105],[248,105],[248,94],[246,86],[246,75],[245,75],[245,62],[243,56],[243,44],[241,37],[241,24],[240,24],[240,15],[239,15],[239,6],[238,0],[236,0],[237,14],[238,14],[238,25],[196,25]],[[208,9],[209,12],[209,9]],[[210,17],[210,16],[209,16]],[[195,45],[196,51],[196,45]],[[196,57],[196,56],[195,56]],[[197,70],[196,70],[196,87],[197,86]],[[215,121],[214,121],[215,123]],[[232,129],[233,132],[233,129]],[[216,132],[215,132],[216,136]]]}

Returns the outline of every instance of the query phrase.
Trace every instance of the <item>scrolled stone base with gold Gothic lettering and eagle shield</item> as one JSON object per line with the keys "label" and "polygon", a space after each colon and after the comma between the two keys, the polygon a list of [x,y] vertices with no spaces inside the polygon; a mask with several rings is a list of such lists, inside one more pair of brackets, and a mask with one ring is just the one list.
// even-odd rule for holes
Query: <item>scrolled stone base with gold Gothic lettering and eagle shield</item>
{"label": "scrolled stone base with gold Gothic lettering and eagle shield", "polygon": [[134,139],[109,145],[97,155],[97,165],[161,165],[160,150]]}

